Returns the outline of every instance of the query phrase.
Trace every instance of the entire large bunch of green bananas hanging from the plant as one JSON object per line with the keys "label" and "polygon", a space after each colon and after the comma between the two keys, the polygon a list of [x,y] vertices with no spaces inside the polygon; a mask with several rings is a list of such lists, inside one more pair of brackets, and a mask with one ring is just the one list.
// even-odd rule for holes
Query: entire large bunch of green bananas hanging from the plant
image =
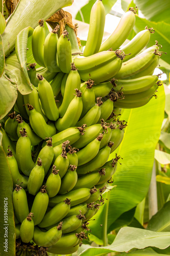
{"label": "entire large bunch of green bananas hanging from the plant", "polygon": [[135,13],[130,8],[102,43],[105,8],[97,0],[80,55],[71,54],[69,33],[59,37],[59,26],[46,37],[42,19],[34,29],[36,63],[27,66],[33,90],[18,91],[0,124],[13,181],[16,255],[70,254],[87,239],[120,159],[108,161],[127,126],[119,115],[147,104],[161,85],[153,75],[161,46],[156,41],[142,51],[153,28],[124,45]]}

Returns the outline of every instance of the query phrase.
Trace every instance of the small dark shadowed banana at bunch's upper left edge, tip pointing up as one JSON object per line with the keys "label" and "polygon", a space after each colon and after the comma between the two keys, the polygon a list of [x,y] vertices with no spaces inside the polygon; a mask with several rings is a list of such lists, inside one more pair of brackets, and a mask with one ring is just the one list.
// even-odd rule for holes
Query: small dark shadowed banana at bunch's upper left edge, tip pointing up
{"label": "small dark shadowed banana at bunch's upper left edge, tip pointing up", "polygon": [[5,122],[5,131],[8,134],[8,136],[11,138],[11,140],[17,141],[18,136],[16,133],[17,128],[17,122],[15,120],[15,111],[11,114],[8,114],[9,118]]}

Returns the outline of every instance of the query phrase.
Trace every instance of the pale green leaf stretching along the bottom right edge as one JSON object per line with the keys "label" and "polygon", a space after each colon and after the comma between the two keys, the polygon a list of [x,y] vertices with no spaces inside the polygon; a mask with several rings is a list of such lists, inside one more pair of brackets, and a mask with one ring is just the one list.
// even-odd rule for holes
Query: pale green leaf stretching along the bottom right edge
{"label": "pale green leaf stretching along the bottom right edge", "polygon": [[133,248],[143,249],[150,246],[164,249],[169,245],[170,232],[155,232],[134,227],[123,227],[119,230],[111,245],[106,247],[84,246],[78,255],[102,256],[103,254],[112,251],[126,252]]}

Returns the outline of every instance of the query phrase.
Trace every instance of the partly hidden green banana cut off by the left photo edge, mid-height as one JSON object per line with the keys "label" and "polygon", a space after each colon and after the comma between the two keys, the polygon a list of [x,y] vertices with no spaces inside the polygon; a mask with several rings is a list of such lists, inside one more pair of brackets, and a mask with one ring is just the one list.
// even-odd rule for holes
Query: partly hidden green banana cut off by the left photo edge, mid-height
{"label": "partly hidden green banana cut off by the left photo edge, mid-height", "polygon": [[16,158],[16,146],[14,144],[14,142],[8,137],[6,131],[3,129],[2,124],[0,123],[0,133],[3,135],[2,137],[2,145],[3,145],[3,149],[5,152],[7,152],[8,147],[10,146],[10,149],[12,151],[12,154],[14,155],[14,157]]}

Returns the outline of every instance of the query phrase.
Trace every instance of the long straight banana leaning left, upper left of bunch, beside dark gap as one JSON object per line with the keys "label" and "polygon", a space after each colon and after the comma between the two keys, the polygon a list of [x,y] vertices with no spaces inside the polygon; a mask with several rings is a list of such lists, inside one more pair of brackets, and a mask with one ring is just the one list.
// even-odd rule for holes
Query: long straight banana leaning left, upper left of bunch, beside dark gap
{"label": "long straight banana leaning left, upper left of bunch, beside dark gap", "polygon": [[46,117],[52,121],[59,118],[59,111],[55,102],[53,89],[43,76],[38,75],[38,95]]}

